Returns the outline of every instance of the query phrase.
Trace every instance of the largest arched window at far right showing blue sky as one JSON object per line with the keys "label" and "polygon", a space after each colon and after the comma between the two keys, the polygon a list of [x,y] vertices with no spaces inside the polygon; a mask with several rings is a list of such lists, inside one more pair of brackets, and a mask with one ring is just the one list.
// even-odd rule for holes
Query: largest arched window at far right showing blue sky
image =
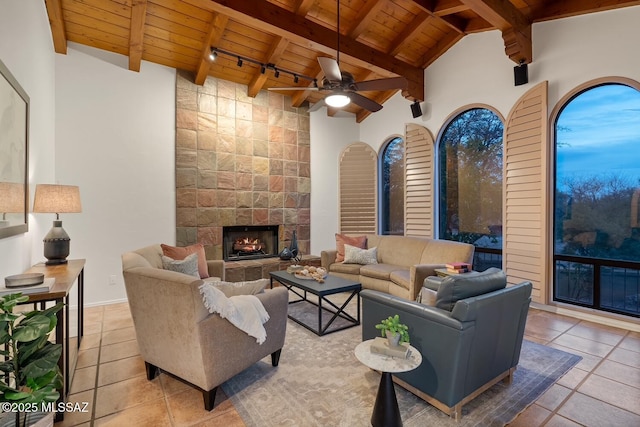
{"label": "largest arched window at far right showing blue sky", "polygon": [[591,85],[554,132],[554,300],[640,317],[640,91]]}

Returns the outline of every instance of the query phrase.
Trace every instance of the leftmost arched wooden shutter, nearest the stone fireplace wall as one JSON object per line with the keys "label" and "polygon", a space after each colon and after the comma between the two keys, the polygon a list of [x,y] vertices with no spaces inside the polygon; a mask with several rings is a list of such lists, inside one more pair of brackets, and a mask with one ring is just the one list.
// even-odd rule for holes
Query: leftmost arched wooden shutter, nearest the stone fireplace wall
{"label": "leftmost arched wooden shutter, nearest the stone fireplace wall", "polygon": [[378,156],[363,142],[344,149],[340,156],[340,232],[376,234]]}

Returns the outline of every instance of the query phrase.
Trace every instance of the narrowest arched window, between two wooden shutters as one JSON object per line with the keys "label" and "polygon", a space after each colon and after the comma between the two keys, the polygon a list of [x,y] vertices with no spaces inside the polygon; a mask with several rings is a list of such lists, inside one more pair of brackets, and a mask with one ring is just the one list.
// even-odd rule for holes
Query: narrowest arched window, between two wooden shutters
{"label": "narrowest arched window, between two wooden shutters", "polygon": [[404,140],[390,139],[380,156],[380,234],[404,234]]}

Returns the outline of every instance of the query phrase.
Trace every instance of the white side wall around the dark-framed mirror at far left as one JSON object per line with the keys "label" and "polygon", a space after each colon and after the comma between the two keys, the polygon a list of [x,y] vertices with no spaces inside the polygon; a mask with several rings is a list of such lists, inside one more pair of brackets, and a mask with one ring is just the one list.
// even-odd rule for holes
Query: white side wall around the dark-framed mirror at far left
{"label": "white side wall around the dark-framed mirror at far left", "polygon": [[[54,177],[55,70],[44,2],[0,0],[0,60],[30,98],[29,189]],[[40,216],[40,215],[39,215]],[[29,215],[29,231],[0,239],[0,280],[20,274],[42,258],[42,237],[51,221]]]}

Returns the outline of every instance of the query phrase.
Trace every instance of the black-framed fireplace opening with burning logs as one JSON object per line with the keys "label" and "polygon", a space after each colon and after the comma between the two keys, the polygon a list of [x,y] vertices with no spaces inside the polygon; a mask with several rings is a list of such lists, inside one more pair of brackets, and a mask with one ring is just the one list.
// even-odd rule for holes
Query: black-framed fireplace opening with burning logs
{"label": "black-framed fireplace opening with burning logs", "polygon": [[234,225],[222,227],[222,254],[225,261],[278,256],[277,225]]}

